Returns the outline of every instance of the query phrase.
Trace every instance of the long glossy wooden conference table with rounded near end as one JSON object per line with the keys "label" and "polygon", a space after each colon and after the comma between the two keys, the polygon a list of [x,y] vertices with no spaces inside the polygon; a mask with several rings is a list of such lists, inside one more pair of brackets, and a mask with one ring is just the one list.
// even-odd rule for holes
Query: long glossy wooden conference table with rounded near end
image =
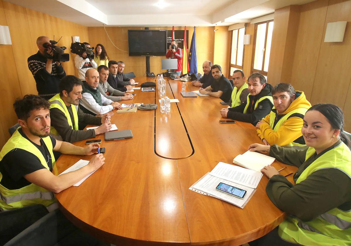
{"label": "long glossy wooden conference table with rounded near end", "polygon": [[[135,81],[140,86],[155,79]],[[186,91],[194,90],[186,82]],[[171,103],[170,113],[161,114],[158,90],[135,90],[133,100],[123,101],[158,104],[155,111],[110,112],[111,122],[119,130],[131,129],[133,138],[95,137],[106,148],[105,164],[80,186],[56,194],[73,224],[116,245],[241,245],[286,218],[267,197],[265,176],[243,209],[188,189],[218,162],[232,163],[251,143],[262,142],[250,123],[219,123],[224,107],[219,98],[183,98],[180,91],[181,82],[167,81],[166,96],[180,101]],[[85,140],[74,144],[86,146]],[[55,174],[91,157],[61,155]],[[286,165],[276,161],[273,166]]]}

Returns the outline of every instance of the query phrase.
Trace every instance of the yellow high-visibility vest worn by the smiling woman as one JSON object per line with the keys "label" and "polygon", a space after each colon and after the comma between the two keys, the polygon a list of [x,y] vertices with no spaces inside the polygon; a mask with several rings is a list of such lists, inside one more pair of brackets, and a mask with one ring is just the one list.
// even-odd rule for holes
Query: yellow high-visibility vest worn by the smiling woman
{"label": "yellow high-visibility vest worn by the smiling woman", "polygon": [[[316,151],[309,147],[305,160]],[[314,160],[297,179],[304,181],[314,171],[336,168],[351,179],[351,151],[341,142],[337,147],[327,151]],[[325,198],[328,199],[328,198]],[[333,208],[311,221],[303,222],[289,216],[279,225],[279,235],[284,240],[302,245],[351,245],[351,211]]]}

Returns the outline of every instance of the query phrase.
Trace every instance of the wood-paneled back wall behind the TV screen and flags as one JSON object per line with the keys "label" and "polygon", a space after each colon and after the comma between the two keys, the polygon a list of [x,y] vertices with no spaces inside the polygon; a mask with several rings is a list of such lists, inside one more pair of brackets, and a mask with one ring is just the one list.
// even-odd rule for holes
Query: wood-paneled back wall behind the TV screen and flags
{"label": "wood-paneled back wall behind the TV screen and flags", "polygon": [[[186,27],[189,31],[189,46],[191,44],[191,38],[194,32],[193,27]],[[92,46],[96,46],[101,43],[105,46],[110,60],[122,60],[126,66],[124,72],[134,72],[136,76],[143,76],[146,73],[146,61],[145,57],[130,57],[128,56],[128,29],[144,30],[145,27],[106,27],[106,31],[103,27],[89,27],[89,40]],[[172,30],[172,27],[150,27],[150,30]],[[222,27],[222,32],[214,32],[213,27],[196,27],[196,52],[197,52],[197,65],[198,72],[203,73],[202,64],[205,60],[211,60],[213,62],[214,53],[216,52],[216,59],[222,66],[228,66],[229,61],[229,42],[227,39],[219,40],[221,43],[220,50],[214,48],[214,40],[218,36],[229,35],[227,27]],[[183,27],[174,27],[174,30],[184,30]],[[112,42],[108,38],[110,36]],[[83,42],[84,40],[81,39]],[[115,46],[118,48],[116,48]],[[189,52],[189,48],[187,53]],[[150,57],[150,71],[155,74],[165,72],[161,70],[161,59],[166,57]],[[225,71],[228,69],[226,68]],[[226,72],[227,73],[227,72]],[[227,74],[225,73],[225,76]]]}

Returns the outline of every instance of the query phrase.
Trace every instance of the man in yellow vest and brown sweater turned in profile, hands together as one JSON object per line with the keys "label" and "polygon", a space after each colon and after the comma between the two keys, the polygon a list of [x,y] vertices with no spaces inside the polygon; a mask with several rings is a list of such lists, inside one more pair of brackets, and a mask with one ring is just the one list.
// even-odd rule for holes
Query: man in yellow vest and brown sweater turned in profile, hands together
{"label": "man in yellow vest and brown sweater turned in profile, hands together", "polygon": [[[62,78],[59,84],[60,93],[49,99],[51,116],[51,134],[58,140],[69,143],[93,138],[111,129],[110,116],[102,117],[85,114],[79,108],[82,98],[82,82],[73,75]],[[83,129],[87,124],[100,125],[96,129]]]}

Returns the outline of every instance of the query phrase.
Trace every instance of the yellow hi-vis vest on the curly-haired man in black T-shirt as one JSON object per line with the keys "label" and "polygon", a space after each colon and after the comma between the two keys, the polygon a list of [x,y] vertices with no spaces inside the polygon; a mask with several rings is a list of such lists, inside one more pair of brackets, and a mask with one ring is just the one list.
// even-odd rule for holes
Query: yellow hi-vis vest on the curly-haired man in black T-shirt
{"label": "yellow hi-vis vest on the curly-haired man in black T-shirt", "polygon": [[[40,150],[35,147],[29,140],[22,137],[18,132],[18,129],[14,132],[11,138],[7,141],[0,152],[0,164],[2,158],[12,151],[13,149],[23,149],[26,150],[35,156],[37,156],[40,160],[40,163],[49,170],[47,166],[45,157],[42,155]],[[52,166],[55,165],[55,157],[52,152],[53,146],[50,137],[43,137],[42,140],[46,145],[52,159]],[[0,181],[2,179],[2,174],[0,173]],[[44,189],[36,184],[29,184],[20,189],[9,190],[6,187],[0,184],[0,210],[13,209],[13,208],[21,208],[34,204],[43,204],[44,206],[50,206],[52,203],[56,201],[54,198],[54,194],[49,192],[47,189]]]}

